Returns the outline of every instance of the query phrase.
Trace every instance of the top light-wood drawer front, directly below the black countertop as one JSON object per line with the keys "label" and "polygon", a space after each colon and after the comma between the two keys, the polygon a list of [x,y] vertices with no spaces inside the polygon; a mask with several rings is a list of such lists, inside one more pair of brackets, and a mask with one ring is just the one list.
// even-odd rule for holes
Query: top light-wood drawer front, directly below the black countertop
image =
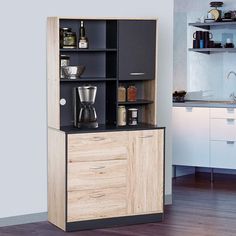
{"label": "top light-wood drawer front, directly below the black countertop", "polygon": [[127,159],[127,132],[68,135],[68,161],[106,161]]}

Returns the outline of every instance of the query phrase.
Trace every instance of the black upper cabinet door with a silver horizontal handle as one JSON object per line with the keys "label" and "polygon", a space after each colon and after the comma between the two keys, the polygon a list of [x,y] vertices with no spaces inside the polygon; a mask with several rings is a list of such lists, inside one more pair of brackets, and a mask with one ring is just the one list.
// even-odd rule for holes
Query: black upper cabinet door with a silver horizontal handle
{"label": "black upper cabinet door with a silver horizontal handle", "polygon": [[120,80],[154,79],[156,21],[119,21]]}

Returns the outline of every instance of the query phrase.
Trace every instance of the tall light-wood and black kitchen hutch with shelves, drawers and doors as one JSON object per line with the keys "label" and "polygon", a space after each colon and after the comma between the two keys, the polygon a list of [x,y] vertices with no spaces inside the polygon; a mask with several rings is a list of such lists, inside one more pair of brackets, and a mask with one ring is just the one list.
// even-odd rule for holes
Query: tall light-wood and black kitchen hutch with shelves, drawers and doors
{"label": "tall light-wood and black kitchen hutch with shelves, drawers and doors", "polygon": [[[60,48],[61,27],[88,49]],[[160,221],[164,195],[164,128],[157,126],[155,19],[49,17],[48,218],[65,231]],[[60,78],[60,55],[85,65],[78,79]],[[119,102],[119,84],[135,84],[137,101]],[[97,129],[73,126],[74,87],[97,86]],[[64,99],[64,104],[60,99]],[[139,110],[138,125],[117,126],[119,105]]]}

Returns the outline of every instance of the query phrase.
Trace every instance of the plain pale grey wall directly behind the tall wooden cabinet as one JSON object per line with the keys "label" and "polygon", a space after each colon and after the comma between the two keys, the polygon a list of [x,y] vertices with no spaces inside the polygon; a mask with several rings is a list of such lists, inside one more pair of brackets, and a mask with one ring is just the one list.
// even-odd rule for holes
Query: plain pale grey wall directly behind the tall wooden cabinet
{"label": "plain pale grey wall directly behind the tall wooden cabinet", "polygon": [[171,194],[173,0],[8,0],[0,9],[0,218],[47,211],[46,18],[159,17],[159,124]]}

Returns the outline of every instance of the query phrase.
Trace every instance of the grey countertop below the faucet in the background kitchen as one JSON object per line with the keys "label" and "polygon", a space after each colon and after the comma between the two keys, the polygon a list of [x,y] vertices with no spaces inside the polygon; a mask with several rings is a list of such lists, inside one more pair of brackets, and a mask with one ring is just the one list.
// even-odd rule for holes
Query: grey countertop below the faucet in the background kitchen
{"label": "grey countertop below the faucet in the background kitchen", "polygon": [[214,108],[236,108],[236,101],[185,101],[173,102],[173,107],[214,107]]}

